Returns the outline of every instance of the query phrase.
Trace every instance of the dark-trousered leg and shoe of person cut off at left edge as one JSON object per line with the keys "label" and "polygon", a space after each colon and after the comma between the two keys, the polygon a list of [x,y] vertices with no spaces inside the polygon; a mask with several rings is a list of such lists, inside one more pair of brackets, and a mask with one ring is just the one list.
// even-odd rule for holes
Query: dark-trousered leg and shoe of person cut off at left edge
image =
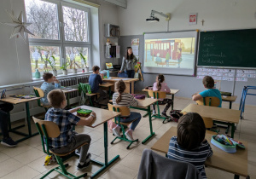
{"label": "dark-trousered leg and shoe of person cut off at left edge", "polygon": [[3,134],[3,139],[1,144],[8,147],[15,147],[17,145],[16,141],[13,141],[12,138],[9,136],[8,131],[8,113],[13,110],[14,106],[9,103],[0,104],[0,127]]}

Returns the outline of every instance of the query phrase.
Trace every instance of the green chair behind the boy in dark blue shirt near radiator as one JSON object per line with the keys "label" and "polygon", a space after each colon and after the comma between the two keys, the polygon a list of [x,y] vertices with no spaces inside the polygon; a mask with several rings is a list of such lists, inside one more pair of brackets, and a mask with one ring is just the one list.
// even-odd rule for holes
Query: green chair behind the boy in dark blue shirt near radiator
{"label": "green chair behind the boy in dark blue shirt near radiator", "polygon": [[[88,99],[90,101],[90,106],[94,107],[93,105],[93,97],[97,97],[98,93],[91,93],[90,84],[79,84],[79,94],[81,94],[81,101]],[[80,103],[84,103],[81,102]]]}

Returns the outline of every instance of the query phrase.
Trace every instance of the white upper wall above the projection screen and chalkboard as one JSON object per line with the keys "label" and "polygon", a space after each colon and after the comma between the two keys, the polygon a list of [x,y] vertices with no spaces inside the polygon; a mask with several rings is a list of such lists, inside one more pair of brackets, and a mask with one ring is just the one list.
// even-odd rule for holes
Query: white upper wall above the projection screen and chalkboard
{"label": "white upper wall above the projection screen and chalkboard", "polygon": [[[171,13],[170,31],[224,30],[255,28],[255,0],[129,0],[127,9],[119,8],[119,26],[122,36],[140,35],[143,32],[164,32],[164,17],[158,23],[147,23],[152,9]],[[198,23],[189,26],[189,14],[198,13]],[[201,20],[205,20],[201,26]]]}

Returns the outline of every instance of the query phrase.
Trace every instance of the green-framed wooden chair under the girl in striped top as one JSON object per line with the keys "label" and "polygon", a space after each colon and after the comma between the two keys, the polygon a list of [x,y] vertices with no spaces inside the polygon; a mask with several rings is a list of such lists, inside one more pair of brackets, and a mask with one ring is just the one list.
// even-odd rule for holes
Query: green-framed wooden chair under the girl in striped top
{"label": "green-framed wooden chair under the girl in striped top", "polygon": [[[119,112],[119,113],[121,113],[121,116],[129,116],[129,115],[130,115],[130,110],[129,110],[128,107],[113,106],[112,104],[108,103],[108,110],[109,110],[109,111],[113,111],[113,112]],[[129,124],[131,124],[133,121],[135,121],[135,120],[137,120],[137,118],[135,118],[135,119],[132,120],[131,122],[122,123],[122,122],[120,122],[120,116],[115,117],[115,118],[113,119],[113,122],[114,122],[115,124],[119,124],[119,126],[121,126],[121,130],[122,130],[122,134],[123,134],[123,135],[122,135],[121,137],[116,136],[116,137],[113,139],[113,141],[115,141],[116,139],[120,139],[120,140],[122,140],[122,141],[129,141],[130,144],[129,144],[128,147],[126,147],[126,149],[129,149],[130,146],[131,146],[131,144],[132,144],[133,142],[138,141],[138,139],[131,141],[131,140],[127,139],[126,136],[125,136],[125,128],[126,128]],[[113,141],[111,141],[110,143],[113,144]]]}

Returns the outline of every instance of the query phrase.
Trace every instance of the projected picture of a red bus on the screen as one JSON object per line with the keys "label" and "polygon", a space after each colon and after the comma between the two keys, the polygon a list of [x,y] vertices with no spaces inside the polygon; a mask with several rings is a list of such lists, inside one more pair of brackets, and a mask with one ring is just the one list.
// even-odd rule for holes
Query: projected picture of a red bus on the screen
{"label": "projected picture of a red bus on the screen", "polygon": [[191,68],[195,38],[145,39],[144,66]]}

